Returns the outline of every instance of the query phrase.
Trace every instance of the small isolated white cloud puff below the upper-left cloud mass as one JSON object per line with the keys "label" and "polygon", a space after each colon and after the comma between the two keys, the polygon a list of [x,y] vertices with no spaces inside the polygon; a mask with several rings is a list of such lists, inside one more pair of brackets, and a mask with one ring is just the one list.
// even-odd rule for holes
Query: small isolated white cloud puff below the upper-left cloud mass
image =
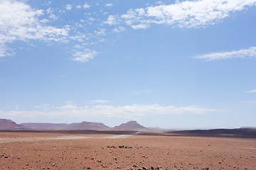
{"label": "small isolated white cloud puff below the upper-left cloud mass", "polygon": [[75,52],[72,60],[76,62],[87,62],[88,60],[93,59],[95,55],[97,55],[97,52],[85,49],[85,51],[82,52]]}

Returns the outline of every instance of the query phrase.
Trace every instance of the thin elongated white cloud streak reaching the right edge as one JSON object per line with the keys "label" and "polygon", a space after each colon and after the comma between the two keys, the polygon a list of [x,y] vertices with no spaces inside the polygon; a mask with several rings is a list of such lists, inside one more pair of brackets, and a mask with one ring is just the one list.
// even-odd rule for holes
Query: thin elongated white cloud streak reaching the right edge
{"label": "thin elongated white cloud streak reaching the right edge", "polygon": [[225,59],[233,59],[233,58],[251,58],[256,57],[256,47],[250,47],[245,50],[233,50],[231,52],[213,52],[206,55],[198,55],[195,58],[203,59],[206,61],[211,60],[225,60]]}

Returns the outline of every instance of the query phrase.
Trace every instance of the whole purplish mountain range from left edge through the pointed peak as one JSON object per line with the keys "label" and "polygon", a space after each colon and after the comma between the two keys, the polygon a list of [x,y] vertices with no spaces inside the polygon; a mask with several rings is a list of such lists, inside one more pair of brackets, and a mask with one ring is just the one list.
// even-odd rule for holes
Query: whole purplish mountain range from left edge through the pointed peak
{"label": "whole purplish mountain range from left edge through the pointed peak", "polygon": [[0,119],[0,130],[13,129],[35,129],[35,130],[149,130],[136,121],[129,121],[114,128],[110,128],[103,123],[21,123],[17,124],[12,120]]}

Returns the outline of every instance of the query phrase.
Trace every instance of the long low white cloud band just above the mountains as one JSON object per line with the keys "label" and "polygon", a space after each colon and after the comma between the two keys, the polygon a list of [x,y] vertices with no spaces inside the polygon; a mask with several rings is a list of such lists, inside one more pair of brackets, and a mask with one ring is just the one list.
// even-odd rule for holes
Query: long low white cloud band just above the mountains
{"label": "long low white cloud band just above the mountains", "polygon": [[[99,102],[100,103],[100,102]],[[210,108],[200,108],[198,106],[159,106],[158,104],[142,105],[132,104],[127,106],[111,106],[111,105],[96,105],[96,106],[78,106],[74,103],[66,103],[63,106],[46,106],[40,107],[34,111],[0,111],[1,118],[18,118],[25,117],[64,117],[65,118],[81,118],[82,116],[95,117],[112,117],[112,118],[137,118],[138,116],[146,115],[168,115],[168,114],[204,114],[216,112]]]}

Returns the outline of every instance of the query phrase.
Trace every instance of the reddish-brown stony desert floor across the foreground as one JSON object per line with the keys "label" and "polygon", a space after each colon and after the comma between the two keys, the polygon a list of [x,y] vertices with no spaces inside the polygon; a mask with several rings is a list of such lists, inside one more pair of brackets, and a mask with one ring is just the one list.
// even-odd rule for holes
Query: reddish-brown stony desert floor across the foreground
{"label": "reddish-brown stony desert floor across the foreground", "polygon": [[256,140],[0,132],[0,169],[256,169]]}

